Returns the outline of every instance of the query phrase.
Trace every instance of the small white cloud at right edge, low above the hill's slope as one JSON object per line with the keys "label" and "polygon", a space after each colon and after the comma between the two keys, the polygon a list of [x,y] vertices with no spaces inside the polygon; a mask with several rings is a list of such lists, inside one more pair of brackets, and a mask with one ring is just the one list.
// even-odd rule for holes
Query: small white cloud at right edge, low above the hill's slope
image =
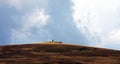
{"label": "small white cloud at right edge, low above the hill's slope", "polygon": [[111,49],[120,50],[120,29],[111,31],[106,38],[104,38],[104,46]]}

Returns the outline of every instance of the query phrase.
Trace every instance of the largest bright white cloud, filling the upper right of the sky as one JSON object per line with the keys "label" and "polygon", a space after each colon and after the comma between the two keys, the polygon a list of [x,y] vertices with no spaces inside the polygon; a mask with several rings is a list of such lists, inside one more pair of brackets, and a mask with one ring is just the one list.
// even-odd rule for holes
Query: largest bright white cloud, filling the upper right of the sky
{"label": "largest bright white cloud, filling the upper right of the sky", "polygon": [[[109,44],[119,40],[119,0],[72,0],[74,22],[92,45]],[[114,33],[112,34],[114,30]],[[116,36],[117,35],[117,36]],[[108,38],[108,39],[107,39]],[[120,42],[120,41],[119,41]]]}

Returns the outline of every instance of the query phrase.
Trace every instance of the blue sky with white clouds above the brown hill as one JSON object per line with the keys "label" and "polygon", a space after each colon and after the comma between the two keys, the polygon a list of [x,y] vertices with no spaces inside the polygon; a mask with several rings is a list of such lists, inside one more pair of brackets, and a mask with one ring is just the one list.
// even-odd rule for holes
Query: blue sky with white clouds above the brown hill
{"label": "blue sky with white clouds above the brown hill", "polygon": [[120,50],[119,0],[0,0],[0,45],[62,41]]}

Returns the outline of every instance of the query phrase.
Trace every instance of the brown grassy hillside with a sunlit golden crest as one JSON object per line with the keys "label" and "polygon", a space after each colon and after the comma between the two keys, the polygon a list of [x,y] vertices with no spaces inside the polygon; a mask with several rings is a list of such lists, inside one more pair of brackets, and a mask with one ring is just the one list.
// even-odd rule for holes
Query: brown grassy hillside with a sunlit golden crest
{"label": "brown grassy hillside with a sunlit golden crest", "polygon": [[0,64],[120,64],[120,51],[68,44],[0,47]]}

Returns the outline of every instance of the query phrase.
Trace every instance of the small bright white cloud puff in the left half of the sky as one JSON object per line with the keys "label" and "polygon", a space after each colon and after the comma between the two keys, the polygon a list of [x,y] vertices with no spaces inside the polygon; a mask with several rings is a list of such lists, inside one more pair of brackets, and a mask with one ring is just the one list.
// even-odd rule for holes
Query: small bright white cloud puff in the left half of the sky
{"label": "small bright white cloud puff in the left half of the sky", "polygon": [[36,26],[37,28],[44,27],[47,24],[49,15],[45,14],[45,10],[36,9],[32,13],[23,16],[24,29],[30,29]]}

